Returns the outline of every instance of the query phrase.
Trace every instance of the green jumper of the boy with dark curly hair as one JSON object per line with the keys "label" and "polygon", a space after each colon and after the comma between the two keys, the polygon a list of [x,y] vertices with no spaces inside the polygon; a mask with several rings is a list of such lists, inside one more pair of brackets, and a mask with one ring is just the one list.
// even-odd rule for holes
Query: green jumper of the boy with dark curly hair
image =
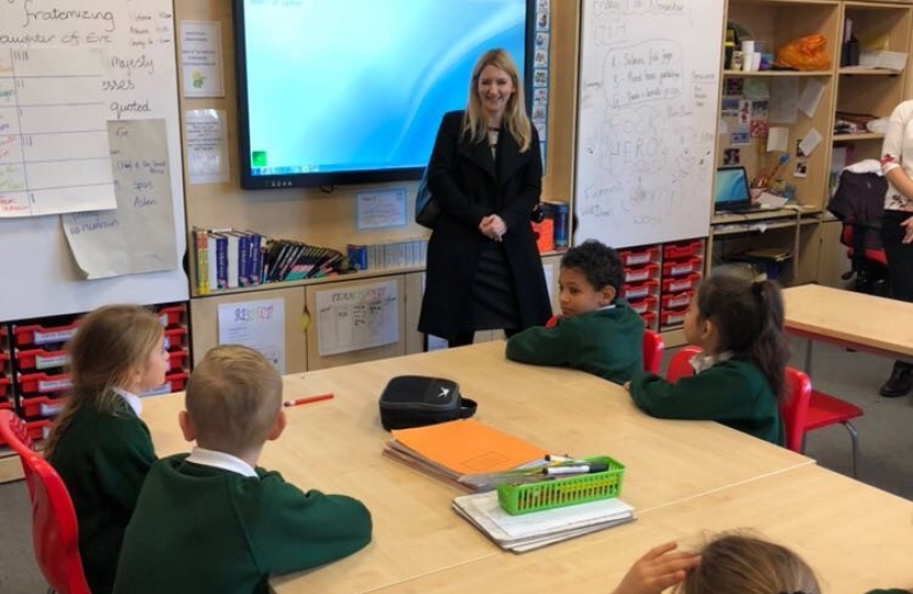
{"label": "green jumper of the boy with dark curly hair", "polygon": [[560,318],[510,337],[507,359],[568,366],[624,384],[644,367],[644,320],[623,299],[615,307]]}

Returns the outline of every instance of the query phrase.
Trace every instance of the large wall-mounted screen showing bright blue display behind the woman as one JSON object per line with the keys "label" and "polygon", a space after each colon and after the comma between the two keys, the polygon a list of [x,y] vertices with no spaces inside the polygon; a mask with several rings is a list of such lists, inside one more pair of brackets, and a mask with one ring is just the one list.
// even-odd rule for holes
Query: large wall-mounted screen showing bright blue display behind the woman
{"label": "large wall-mounted screen showing bright blue display behind the woman", "polygon": [[[417,178],[441,116],[465,106],[479,56],[504,47],[520,73],[526,63],[527,0],[237,0],[235,8],[245,187],[312,185],[309,176],[322,184],[346,172],[391,179],[413,169],[399,178]],[[290,182],[256,182],[271,176]]]}

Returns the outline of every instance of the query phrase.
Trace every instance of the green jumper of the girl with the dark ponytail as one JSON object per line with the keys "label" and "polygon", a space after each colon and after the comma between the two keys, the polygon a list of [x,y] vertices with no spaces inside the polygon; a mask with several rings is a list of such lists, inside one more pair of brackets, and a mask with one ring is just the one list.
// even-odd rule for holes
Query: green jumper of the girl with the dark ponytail
{"label": "green jumper of the girl with the dark ponytail", "polygon": [[785,432],[770,384],[748,360],[729,359],[674,384],[653,374],[630,384],[635,404],[662,419],[715,420],[783,446]]}

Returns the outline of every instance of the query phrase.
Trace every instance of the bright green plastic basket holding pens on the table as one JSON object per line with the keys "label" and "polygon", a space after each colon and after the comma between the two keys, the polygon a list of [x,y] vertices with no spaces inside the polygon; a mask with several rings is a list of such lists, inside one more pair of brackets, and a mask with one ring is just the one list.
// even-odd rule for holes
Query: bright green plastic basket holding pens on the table
{"label": "bright green plastic basket holding pens on the table", "polygon": [[607,455],[583,460],[607,464],[608,470],[537,483],[501,485],[497,487],[497,501],[505,512],[516,516],[617,497],[622,492],[625,466]]}

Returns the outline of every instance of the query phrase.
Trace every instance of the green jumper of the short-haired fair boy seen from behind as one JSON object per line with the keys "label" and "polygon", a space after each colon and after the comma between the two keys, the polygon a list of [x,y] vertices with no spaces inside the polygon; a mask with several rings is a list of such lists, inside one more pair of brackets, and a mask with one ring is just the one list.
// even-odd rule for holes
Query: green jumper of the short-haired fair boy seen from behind
{"label": "green jumper of the short-haired fair boy seen from behind", "polygon": [[302,493],[277,472],[260,479],[163,458],[127,529],[114,592],[252,594],[268,576],[336,561],[371,541],[371,514],[344,495]]}

